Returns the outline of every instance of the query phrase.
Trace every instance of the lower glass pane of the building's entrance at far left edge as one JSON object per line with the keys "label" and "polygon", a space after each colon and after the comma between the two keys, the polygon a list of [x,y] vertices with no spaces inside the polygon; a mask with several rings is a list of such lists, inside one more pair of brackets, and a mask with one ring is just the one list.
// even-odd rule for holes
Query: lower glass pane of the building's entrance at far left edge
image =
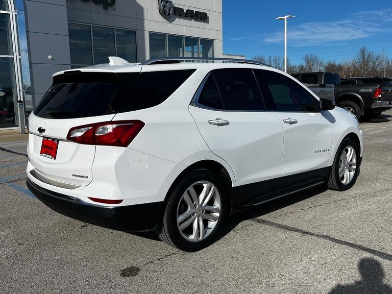
{"label": "lower glass pane of the building's entrance at far left edge", "polygon": [[14,58],[0,57],[0,128],[16,126]]}

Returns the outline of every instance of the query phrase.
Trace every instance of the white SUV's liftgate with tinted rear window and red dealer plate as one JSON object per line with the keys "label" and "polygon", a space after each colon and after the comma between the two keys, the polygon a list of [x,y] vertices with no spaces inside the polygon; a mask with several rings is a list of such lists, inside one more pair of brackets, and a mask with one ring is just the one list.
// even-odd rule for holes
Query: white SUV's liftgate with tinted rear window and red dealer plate
{"label": "white SUV's liftgate with tinted rear window and red dealer plate", "polygon": [[[139,75],[134,74],[128,76],[129,84]],[[96,147],[67,141],[67,134],[75,126],[111,121],[122,91],[114,73],[72,71],[55,76],[29,116],[28,157],[36,177],[89,184]]]}

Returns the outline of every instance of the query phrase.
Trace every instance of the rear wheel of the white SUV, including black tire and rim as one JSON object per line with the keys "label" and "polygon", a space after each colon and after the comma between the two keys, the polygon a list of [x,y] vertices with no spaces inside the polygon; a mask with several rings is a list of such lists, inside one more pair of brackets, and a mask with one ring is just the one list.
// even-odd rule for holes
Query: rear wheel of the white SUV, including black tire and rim
{"label": "rear wheel of the white SUV, including black tire and rim", "polygon": [[[207,195],[199,201],[205,190]],[[221,179],[209,170],[198,169],[183,177],[169,193],[157,227],[159,238],[183,251],[210,245],[227,211],[227,192]]]}

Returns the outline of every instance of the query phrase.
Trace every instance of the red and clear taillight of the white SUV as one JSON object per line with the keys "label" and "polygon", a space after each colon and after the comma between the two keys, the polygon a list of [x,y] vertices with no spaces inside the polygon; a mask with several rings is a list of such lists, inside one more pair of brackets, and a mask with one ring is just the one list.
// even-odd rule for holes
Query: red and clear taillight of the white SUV
{"label": "red and clear taillight of the white SUV", "polygon": [[144,125],[142,121],[85,124],[71,128],[67,140],[88,145],[127,147]]}

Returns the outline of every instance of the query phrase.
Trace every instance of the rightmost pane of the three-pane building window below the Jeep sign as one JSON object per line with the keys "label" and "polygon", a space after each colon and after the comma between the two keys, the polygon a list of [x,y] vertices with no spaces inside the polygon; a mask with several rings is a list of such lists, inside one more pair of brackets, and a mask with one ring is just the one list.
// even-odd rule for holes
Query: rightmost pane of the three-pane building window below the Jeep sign
{"label": "rightmost pane of the three-pane building window below the Jeep sign", "polygon": [[136,32],[116,28],[117,56],[128,62],[137,62]]}

